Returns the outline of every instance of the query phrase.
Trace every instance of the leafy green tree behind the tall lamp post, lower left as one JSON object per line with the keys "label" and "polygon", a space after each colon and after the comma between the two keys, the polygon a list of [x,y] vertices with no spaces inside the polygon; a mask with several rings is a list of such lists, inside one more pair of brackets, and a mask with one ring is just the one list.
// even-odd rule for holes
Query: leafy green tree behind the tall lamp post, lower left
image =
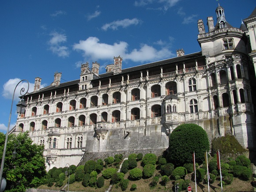
{"label": "leafy green tree behind the tall lamp post, lower left", "polygon": [[[5,135],[0,133],[0,161],[4,151],[4,140]],[[45,182],[44,146],[32,143],[28,132],[8,136],[3,172],[3,177],[8,183],[5,192],[24,192],[26,188],[38,187]],[[13,159],[11,154],[15,147],[17,158]]]}

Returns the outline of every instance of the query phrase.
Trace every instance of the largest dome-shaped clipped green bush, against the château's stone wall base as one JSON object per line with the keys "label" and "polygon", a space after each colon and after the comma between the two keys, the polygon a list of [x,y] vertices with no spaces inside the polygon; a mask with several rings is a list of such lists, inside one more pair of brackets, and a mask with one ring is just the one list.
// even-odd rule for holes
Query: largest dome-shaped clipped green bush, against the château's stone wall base
{"label": "largest dome-shaped clipped green bush, against the ch\u00e2teau's stone wall base", "polygon": [[[193,138],[193,142],[188,142],[187,138]],[[182,166],[192,162],[192,153],[195,151],[196,162],[201,163],[209,148],[208,136],[203,128],[196,124],[181,124],[169,136],[168,161]]]}

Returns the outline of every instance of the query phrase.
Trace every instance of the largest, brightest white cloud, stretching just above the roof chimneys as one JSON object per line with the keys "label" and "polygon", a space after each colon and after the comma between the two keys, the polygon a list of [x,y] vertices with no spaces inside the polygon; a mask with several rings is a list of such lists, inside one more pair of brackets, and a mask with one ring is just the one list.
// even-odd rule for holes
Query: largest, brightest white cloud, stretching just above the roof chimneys
{"label": "largest, brightest white cloud, stretching just above the roof chimneys", "polygon": [[85,41],[79,41],[79,43],[73,45],[73,49],[82,51],[84,57],[90,57],[92,60],[113,60],[113,56],[120,55],[124,59],[144,62],[173,56],[166,47],[162,47],[160,50],[157,50],[146,44],[141,45],[139,49],[133,49],[128,53],[128,43],[120,41],[119,43],[109,45],[101,43],[96,37],[89,37]]}

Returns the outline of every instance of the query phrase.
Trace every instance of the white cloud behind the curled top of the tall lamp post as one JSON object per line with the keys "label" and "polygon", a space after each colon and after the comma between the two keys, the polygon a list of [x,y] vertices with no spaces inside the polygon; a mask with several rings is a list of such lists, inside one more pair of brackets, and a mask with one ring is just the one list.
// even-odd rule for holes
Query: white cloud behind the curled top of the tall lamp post
{"label": "white cloud behind the curled top of the tall lamp post", "polygon": [[[4,96],[4,98],[12,99],[14,89],[20,81],[21,81],[21,79],[15,78],[15,79],[9,79],[6,83],[4,83],[4,85],[3,85],[4,90],[2,92],[2,95]],[[15,95],[14,95],[15,101],[20,100],[19,96],[21,96],[20,90],[22,88],[24,88],[24,92],[22,92],[22,94],[24,94],[28,88],[28,83],[26,81],[19,83],[19,85],[17,86],[17,88],[15,90]],[[34,83],[29,83],[28,92],[32,92],[33,90],[34,90]]]}

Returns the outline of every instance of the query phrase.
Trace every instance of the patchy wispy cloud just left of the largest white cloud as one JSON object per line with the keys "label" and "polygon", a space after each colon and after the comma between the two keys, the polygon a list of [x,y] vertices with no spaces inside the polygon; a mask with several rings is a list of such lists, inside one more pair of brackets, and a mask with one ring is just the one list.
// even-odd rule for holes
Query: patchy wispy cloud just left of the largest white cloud
{"label": "patchy wispy cloud just left of the largest white cloud", "polygon": [[50,36],[52,37],[49,40],[50,50],[60,56],[60,57],[66,57],[69,56],[68,47],[60,45],[63,42],[67,41],[67,36],[65,34],[60,34],[55,32],[50,33]]}

